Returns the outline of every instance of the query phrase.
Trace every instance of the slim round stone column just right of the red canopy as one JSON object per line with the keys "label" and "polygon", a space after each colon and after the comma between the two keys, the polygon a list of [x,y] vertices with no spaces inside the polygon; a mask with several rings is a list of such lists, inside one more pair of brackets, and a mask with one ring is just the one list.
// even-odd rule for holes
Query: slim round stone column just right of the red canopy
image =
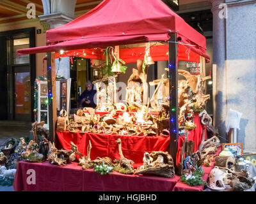
{"label": "slim round stone column just right of the red canopy", "polygon": [[[210,0],[213,17],[212,42],[212,98],[214,108],[214,126],[225,137],[225,118],[227,116],[227,86],[226,86],[226,19],[220,18],[219,5],[225,0]],[[225,142],[221,141],[221,142]]]}

